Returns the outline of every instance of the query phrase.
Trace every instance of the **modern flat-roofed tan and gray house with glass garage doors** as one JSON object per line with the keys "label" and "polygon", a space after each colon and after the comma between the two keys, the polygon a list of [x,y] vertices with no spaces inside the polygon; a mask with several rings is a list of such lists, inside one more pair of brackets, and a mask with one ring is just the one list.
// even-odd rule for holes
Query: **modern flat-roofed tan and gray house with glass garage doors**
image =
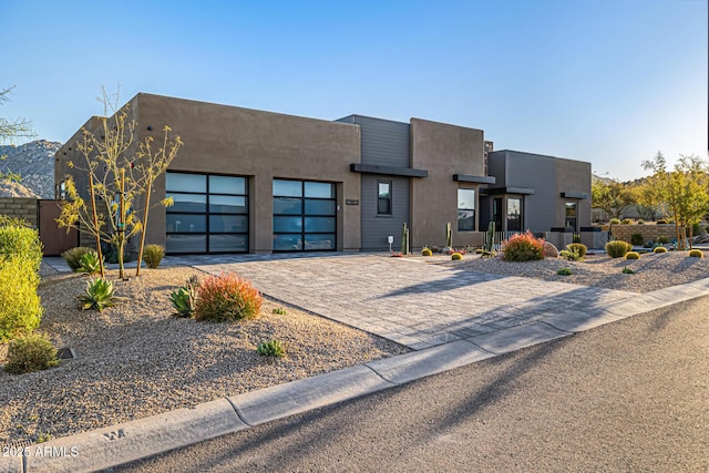
{"label": "modern flat-roofed tan and gray house with glass garage doors", "polygon": [[[565,227],[567,203],[577,204],[575,225],[589,225],[590,164],[489,152],[482,130],[362,115],[331,122],[145,93],[127,106],[136,142],[164,125],[184,142],[154,191],[153,204],[172,196],[175,205],[156,207],[147,228],[147,240],[171,254],[383,250],[389,236],[399,247],[404,223],[412,248],[443,245],[446,223],[454,245],[480,245],[492,218],[505,215],[499,229],[513,229],[514,198],[514,228]],[[80,160],[80,136],[56,153],[58,197],[70,173],[88,187],[66,164]]]}

